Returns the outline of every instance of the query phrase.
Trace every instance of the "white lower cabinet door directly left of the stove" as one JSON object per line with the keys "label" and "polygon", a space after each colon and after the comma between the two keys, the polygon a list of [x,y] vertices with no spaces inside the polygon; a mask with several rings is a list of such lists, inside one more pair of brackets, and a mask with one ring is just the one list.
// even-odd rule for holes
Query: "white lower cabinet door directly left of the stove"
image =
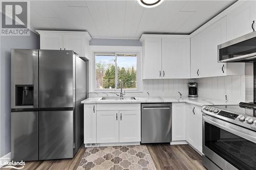
{"label": "white lower cabinet door directly left of the stove", "polygon": [[186,104],[186,141],[202,153],[202,112],[197,105]]}

